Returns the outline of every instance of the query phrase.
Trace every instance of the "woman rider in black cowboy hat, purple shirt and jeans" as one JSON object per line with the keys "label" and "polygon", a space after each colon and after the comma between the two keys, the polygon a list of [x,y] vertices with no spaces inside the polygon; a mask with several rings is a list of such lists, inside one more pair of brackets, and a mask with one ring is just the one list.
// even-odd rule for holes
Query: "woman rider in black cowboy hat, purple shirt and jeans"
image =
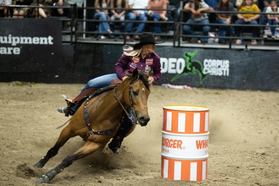
{"label": "woman rider in black cowboy hat, purple shirt and jeans", "polygon": [[[158,81],[162,73],[160,57],[155,53],[155,44],[160,44],[163,42],[164,40],[162,39],[155,39],[154,35],[150,32],[142,33],[140,35],[139,43],[135,44],[133,47],[123,47],[123,55],[120,57],[117,64],[115,65],[116,74],[107,74],[88,81],[81,92],[88,88],[103,88],[109,86],[112,79],[124,80],[127,78],[124,72],[126,70],[133,71],[135,68],[138,68],[138,70],[143,72],[148,72],[153,69],[153,75],[149,77],[149,81],[151,83]],[[74,113],[77,109],[78,107],[76,105],[73,105],[71,106],[70,112]],[[67,107],[57,108],[57,111],[65,113],[67,111]],[[134,116],[130,109],[128,109],[128,112],[132,116],[132,119],[134,119]],[[132,122],[127,119],[123,137],[127,135],[132,126]],[[114,140],[112,140],[112,142],[109,144],[109,148],[112,149],[114,153],[119,154],[120,145],[121,142],[116,143],[114,142]]]}

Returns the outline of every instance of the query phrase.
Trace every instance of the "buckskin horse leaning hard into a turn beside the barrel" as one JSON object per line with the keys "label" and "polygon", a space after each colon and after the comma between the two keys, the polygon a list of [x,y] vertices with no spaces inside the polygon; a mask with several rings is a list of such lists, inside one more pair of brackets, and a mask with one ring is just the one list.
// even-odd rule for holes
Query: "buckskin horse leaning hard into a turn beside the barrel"
{"label": "buckskin horse leaning hard into a turn beside the barrel", "polygon": [[[125,106],[131,108],[135,116],[134,123],[146,126],[150,120],[147,108],[150,74],[151,71],[140,73],[135,69],[133,74],[126,74],[128,78],[113,90],[87,98],[83,102],[84,106],[78,108],[69,124],[61,131],[56,144],[34,167],[44,167],[47,161],[58,153],[60,147],[72,137],[80,136],[86,139],[84,146],[73,155],[67,156],[57,167],[38,178],[36,183],[49,183],[49,180],[52,180],[75,160],[84,158],[104,147],[116,134],[119,123],[123,119],[122,112],[126,111]],[[128,117],[130,116],[128,112],[126,114]],[[90,129],[90,127],[92,128]]]}

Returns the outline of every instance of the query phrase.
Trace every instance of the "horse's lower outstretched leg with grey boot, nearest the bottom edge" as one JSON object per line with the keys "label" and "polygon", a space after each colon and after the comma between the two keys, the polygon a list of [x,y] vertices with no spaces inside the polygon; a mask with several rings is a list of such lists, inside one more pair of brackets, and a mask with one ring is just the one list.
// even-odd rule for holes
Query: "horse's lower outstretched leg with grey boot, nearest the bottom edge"
{"label": "horse's lower outstretched leg with grey boot, nearest the bottom edge", "polygon": [[74,161],[94,153],[102,146],[104,146],[102,143],[86,142],[81,149],[76,151],[73,155],[67,156],[61,164],[37,179],[36,184],[49,183],[49,180],[52,180],[59,172],[61,172],[66,167],[69,167],[69,165],[71,165]]}

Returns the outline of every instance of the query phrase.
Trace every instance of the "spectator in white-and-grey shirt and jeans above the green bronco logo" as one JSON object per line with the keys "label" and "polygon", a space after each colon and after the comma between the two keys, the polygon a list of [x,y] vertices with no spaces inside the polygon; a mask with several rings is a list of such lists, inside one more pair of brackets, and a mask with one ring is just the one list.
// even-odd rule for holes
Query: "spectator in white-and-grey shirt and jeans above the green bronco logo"
{"label": "spectator in white-and-grey shirt and jeans above the green bronco logo", "polygon": [[[209,24],[208,16],[206,11],[210,10],[210,7],[201,0],[190,0],[186,5],[184,6],[184,10],[190,10],[192,12],[191,18],[188,19],[186,23],[202,23],[202,24]],[[194,31],[191,28],[196,28],[200,26],[194,26],[194,25],[184,25],[183,30],[188,35],[195,35]],[[203,36],[207,36],[208,32],[210,31],[210,26],[204,25],[202,34]],[[205,38],[200,39],[202,43],[205,43]],[[192,37],[189,42],[194,43],[197,42],[198,39]]]}

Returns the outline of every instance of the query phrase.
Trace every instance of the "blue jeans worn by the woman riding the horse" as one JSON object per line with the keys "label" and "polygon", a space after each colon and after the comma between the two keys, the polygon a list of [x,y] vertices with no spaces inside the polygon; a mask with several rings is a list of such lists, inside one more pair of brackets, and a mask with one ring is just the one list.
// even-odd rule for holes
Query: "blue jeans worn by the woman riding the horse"
{"label": "blue jeans worn by the woman riding the horse", "polygon": [[[116,74],[107,74],[107,75],[103,75],[103,76],[99,76],[97,78],[91,79],[87,82],[87,84],[85,85],[85,87],[81,90],[81,92],[83,92],[85,89],[87,88],[103,88],[103,87],[107,87],[110,85],[110,81],[112,79],[119,79],[119,77]],[[71,109],[76,111],[78,109],[77,105],[72,105]],[[130,108],[128,108],[128,113],[130,114],[130,116],[132,117],[132,119],[134,120],[134,115],[132,114]],[[125,124],[125,128],[124,128],[124,136],[127,135],[127,133],[131,130],[133,126],[132,121],[127,118],[126,124]]]}

